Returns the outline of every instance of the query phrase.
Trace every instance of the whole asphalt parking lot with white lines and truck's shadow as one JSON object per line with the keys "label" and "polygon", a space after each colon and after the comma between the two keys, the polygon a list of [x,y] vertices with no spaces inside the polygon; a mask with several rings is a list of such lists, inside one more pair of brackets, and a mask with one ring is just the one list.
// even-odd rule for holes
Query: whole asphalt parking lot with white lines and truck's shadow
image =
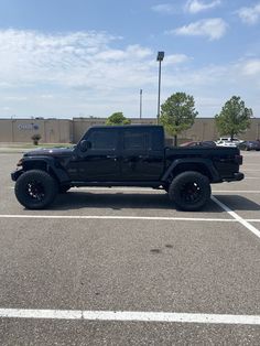
{"label": "whole asphalt parking lot with white lines and truck's shadow", "polygon": [[0,345],[259,345],[260,153],[197,213],[164,192],[15,199],[0,154]]}

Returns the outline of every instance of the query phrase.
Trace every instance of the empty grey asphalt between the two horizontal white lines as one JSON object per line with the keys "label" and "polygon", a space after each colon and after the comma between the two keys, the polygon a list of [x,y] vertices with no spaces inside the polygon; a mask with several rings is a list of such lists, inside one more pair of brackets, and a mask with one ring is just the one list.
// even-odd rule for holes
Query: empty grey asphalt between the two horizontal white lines
{"label": "empty grey asphalt between the two horizontal white lines", "polygon": [[1,307],[260,314],[260,244],[240,225],[26,219],[2,228]]}

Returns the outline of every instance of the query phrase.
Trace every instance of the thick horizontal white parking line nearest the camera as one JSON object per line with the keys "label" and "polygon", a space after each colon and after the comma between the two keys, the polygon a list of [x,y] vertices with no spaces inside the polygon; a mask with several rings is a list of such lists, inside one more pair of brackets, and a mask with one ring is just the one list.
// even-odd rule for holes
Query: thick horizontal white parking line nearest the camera
{"label": "thick horizontal white parking line nearest the camera", "polygon": [[194,314],[194,313],[132,312],[132,311],[0,309],[0,317],[260,325],[259,315]]}

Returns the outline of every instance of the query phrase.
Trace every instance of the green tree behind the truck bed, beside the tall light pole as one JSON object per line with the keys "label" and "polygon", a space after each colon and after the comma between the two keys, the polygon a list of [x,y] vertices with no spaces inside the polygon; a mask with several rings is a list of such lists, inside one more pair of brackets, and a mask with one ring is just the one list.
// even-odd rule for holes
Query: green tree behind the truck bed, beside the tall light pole
{"label": "green tree behind the truck bed, beside the tall light pole", "polygon": [[174,145],[177,145],[177,134],[193,126],[198,115],[194,106],[193,96],[185,93],[173,94],[161,106],[160,123],[174,137]]}

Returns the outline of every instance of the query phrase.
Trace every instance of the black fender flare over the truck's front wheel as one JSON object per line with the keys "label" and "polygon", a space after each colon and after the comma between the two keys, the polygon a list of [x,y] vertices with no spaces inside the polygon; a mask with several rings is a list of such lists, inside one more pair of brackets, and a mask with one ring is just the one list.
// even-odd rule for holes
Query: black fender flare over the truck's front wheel
{"label": "black fender flare over the truck's front wheel", "polygon": [[59,183],[66,183],[71,181],[67,172],[54,158],[48,158],[44,155],[24,156],[22,165],[24,172],[35,169],[35,166],[39,166],[40,169],[41,166],[44,166],[44,171],[46,171],[51,175],[54,174]]}

